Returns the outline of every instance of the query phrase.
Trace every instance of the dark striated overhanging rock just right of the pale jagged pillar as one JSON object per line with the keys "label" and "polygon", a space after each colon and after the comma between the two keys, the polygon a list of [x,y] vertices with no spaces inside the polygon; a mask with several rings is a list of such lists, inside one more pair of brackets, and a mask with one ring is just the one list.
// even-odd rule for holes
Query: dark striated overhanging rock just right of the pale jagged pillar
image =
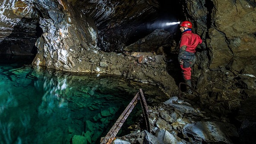
{"label": "dark striated overhanging rock just right of the pale jagged pillar", "polygon": [[157,0],[69,1],[95,21],[99,47],[106,52],[122,52],[128,43],[150,34],[145,22],[157,17],[159,5]]}

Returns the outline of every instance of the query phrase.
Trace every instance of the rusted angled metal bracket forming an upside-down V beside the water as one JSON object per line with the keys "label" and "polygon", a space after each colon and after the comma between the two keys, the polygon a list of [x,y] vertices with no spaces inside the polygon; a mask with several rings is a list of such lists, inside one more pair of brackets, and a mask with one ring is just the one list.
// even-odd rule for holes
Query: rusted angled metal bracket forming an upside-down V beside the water
{"label": "rusted angled metal bracket forming an upside-down V beside the water", "polygon": [[150,132],[150,126],[149,126],[149,120],[148,120],[148,105],[146,103],[145,97],[143,95],[142,89],[140,89],[140,92],[134,96],[132,101],[128,104],[128,106],[125,108],[124,112],[119,116],[119,118],[116,120],[116,123],[112,126],[112,128],[108,131],[107,135],[104,137],[104,139],[100,142],[100,144],[111,144],[114,138],[116,137],[116,134],[119,132],[120,128],[124,124],[125,120],[129,116],[129,114],[132,112],[132,109],[137,104],[138,100],[140,100],[140,104],[143,110],[143,117],[146,123],[147,131]]}

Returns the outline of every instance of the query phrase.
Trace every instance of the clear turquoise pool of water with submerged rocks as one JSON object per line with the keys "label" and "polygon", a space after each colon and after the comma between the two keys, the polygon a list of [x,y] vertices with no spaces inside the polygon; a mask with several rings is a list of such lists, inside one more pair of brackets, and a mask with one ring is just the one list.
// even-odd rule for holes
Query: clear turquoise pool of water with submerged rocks
{"label": "clear turquoise pool of water with submerged rocks", "polygon": [[[0,144],[70,144],[75,135],[97,144],[139,88],[117,76],[0,64]],[[124,128],[142,114],[137,106]]]}

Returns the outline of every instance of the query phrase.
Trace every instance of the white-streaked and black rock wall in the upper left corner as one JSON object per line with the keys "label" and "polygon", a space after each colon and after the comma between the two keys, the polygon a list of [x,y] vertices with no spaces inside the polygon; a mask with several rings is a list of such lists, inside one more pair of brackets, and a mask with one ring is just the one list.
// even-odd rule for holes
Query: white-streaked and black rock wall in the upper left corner
{"label": "white-streaked and black rock wall in the upper left corner", "polygon": [[0,54],[35,54],[38,13],[24,1],[1,0],[0,15]]}

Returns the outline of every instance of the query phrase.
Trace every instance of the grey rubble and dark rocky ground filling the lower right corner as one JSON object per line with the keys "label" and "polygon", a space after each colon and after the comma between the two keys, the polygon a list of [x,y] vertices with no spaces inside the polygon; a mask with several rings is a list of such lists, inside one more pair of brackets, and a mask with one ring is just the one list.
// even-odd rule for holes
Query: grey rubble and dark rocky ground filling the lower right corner
{"label": "grey rubble and dark rocky ground filling the lower right corner", "polygon": [[[205,94],[199,89],[195,90],[200,95],[181,92],[150,106],[150,132],[134,126],[131,134],[119,138],[131,144],[252,143],[252,135],[256,134],[256,91],[240,85],[241,79],[236,76],[231,80],[227,71],[222,71],[208,72],[208,80],[211,76],[215,80],[206,85]],[[256,85],[255,77],[248,79]],[[143,118],[139,123],[144,123]]]}

